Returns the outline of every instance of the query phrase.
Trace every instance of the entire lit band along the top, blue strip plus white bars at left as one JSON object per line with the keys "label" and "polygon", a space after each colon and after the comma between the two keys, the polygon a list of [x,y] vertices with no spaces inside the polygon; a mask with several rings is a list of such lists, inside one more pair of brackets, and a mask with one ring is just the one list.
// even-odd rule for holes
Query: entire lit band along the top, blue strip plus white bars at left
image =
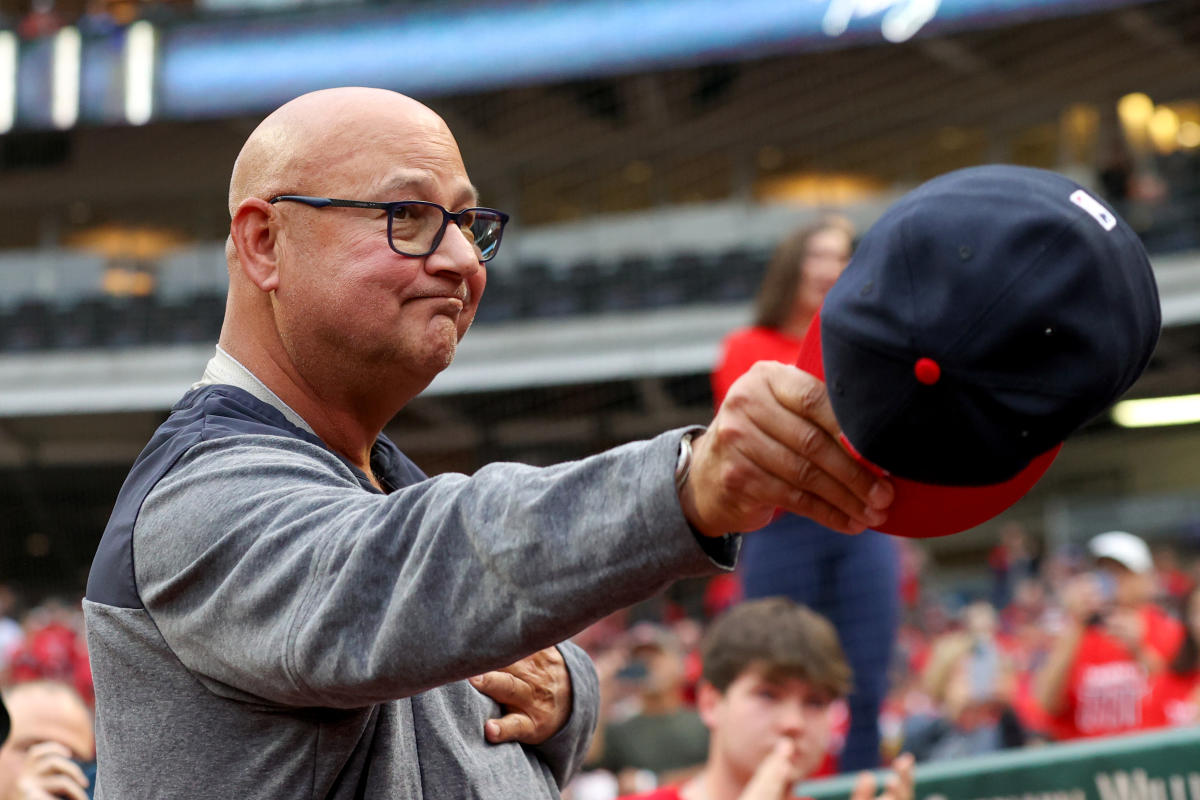
{"label": "entire lit band along the top, blue strip plus white bars at left", "polygon": [[[13,122],[36,130],[254,115],[340,85],[445,96],[904,42],[1150,1],[272,1],[247,16],[256,4],[239,0],[229,6],[238,14],[143,20],[127,35],[67,28],[22,42],[10,76]],[[60,47],[62,37],[70,42]],[[73,54],[72,66],[60,64],[64,54]],[[67,85],[77,96],[56,96]]]}

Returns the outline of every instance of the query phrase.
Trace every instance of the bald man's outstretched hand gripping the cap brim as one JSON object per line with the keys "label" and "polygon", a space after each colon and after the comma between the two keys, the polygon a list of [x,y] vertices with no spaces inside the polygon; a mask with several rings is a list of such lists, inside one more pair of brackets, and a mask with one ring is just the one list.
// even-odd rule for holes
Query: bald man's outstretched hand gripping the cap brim
{"label": "bald man's outstretched hand gripping the cap brim", "polygon": [[856,462],[840,433],[823,383],[760,361],[692,441],[684,516],[709,536],[762,528],[776,509],[847,534],[882,524],[892,485]]}

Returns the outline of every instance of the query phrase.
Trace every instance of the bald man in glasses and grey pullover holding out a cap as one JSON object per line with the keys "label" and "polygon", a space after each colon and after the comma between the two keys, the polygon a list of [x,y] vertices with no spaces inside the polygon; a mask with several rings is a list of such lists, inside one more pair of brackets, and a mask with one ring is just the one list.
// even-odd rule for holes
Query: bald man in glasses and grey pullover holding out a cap
{"label": "bald man in glasses and grey pullover holding out a cap", "polygon": [[413,100],[287,103],[229,212],[216,355],[88,582],[98,798],[557,796],[596,684],[556,643],[731,569],[776,506],[857,531],[890,501],[781,365],[707,433],[427,479],[380,432],[454,357],[506,216]]}

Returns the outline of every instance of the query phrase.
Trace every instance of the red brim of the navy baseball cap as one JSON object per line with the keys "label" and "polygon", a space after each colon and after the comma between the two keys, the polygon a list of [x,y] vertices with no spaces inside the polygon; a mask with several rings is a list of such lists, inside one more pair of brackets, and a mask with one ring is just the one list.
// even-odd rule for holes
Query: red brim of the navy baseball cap
{"label": "red brim of the navy baseball cap", "polygon": [[[821,315],[809,326],[800,348],[797,366],[804,372],[824,380],[821,357]],[[888,521],[877,530],[908,539],[947,536],[982,524],[1025,497],[1033,485],[1050,469],[1055,456],[1062,450],[1057,445],[1034,458],[1015,476],[1003,483],[990,486],[937,486],[910,481],[887,473],[863,458],[853,445],[841,438],[842,446],[876,475],[886,476],[895,487],[895,501],[888,509]],[[980,457],[986,455],[980,453]]]}

